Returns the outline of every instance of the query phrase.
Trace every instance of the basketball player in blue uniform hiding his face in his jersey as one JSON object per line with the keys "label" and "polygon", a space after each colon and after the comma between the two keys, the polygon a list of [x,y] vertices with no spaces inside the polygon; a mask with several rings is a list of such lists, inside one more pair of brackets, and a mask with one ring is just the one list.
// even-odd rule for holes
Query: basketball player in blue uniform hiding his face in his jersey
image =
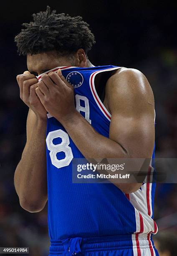
{"label": "basketball player in blue uniform hiding his face in his jersey", "polygon": [[17,76],[29,107],[15,171],[20,205],[48,200],[50,256],[158,255],[154,184],[72,183],[73,158],[151,158],[154,97],[136,69],[94,67],[94,35],[81,17],[46,12],[15,37],[28,71]]}

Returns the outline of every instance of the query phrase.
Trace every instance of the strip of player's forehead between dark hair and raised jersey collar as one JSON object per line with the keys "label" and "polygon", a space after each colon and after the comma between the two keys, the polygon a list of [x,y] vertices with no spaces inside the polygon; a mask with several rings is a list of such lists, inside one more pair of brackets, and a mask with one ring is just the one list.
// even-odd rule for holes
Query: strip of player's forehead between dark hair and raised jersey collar
{"label": "strip of player's forehead between dark hair and raised jersey collar", "polygon": [[59,66],[69,65],[67,57],[58,56],[56,51],[27,55],[27,67],[29,71],[41,74],[43,70],[50,70]]}

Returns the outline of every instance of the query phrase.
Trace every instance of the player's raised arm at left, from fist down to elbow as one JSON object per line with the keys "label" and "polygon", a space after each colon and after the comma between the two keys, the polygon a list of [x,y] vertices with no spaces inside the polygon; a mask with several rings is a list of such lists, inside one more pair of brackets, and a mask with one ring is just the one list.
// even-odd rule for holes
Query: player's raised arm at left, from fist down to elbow
{"label": "player's raised arm at left, from fist down to elbow", "polygon": [[[32,86],[30,80],[28,79],[26,84],[21,81],[23,83],[22,85],[18,79],[20,95],[23,94],[20,97],[26,104],[29,103],[27,104],[29,106],[32,98],[33,100],[35,99],[35,95],[33,94],[35,94],[35,87],[37,86],[33,85],[30,89]],[[34,82],[32,81],[32,83]],[[28,97],[26,98],[24,96],[25,90],[28,92]],[[31,95],[31,99],[29,99],[29,95]],[[35,102],[35,106],[37,105]],[[42,210],[47,202],[46,118],[40,117],[42,110],[40,105],[38,105],[38,111],[36,113],[29,109],[26,125],[27,141],[14,176],[15,189],[20,200],[20,205],[29,212]],[[40,113],[40,115],[37,113]],[[46,110],[43,111],[43,116],[46,116]]]}

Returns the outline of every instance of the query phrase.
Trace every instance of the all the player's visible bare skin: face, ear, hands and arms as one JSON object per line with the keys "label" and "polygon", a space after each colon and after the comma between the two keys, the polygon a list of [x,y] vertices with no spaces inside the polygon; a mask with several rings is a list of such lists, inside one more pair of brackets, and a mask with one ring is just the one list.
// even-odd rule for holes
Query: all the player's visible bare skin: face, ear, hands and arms
{"label": "all the player's visible bare skin: face, ear, hands and arms", "polygon": [[[15,171],[15,188],[20,205],[25,210],[40,211],[47,201],[46,112],[64,126],[86,158],[152,157],[154,96],[141,72],[121,68],[108,79],[104,105],[112,117],[109,138],[106,138],[76,111],[73,87],[62,76],[60,69],[57,73],[44,74],[40,82],[30,74],[41,74],[59,66],[90,67],[83,49],[79,49],[72,59],[59,57],[55,51],[28,55],[27,66],[29,72],[17,76],[20,97],[30,110],[27,143]],[[75,129],[76,125],[80,129]],[[141,185],[115,184],[124,193],[135,192]]]}

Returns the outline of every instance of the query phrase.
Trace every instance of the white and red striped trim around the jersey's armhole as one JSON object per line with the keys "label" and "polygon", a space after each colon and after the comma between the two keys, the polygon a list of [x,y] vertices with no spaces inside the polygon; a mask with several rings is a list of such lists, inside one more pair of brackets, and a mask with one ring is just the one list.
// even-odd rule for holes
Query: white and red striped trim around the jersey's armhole
{"label": "white and red striped trim around the jersey's armhole", "polygon": [[115,69],[120,69],[122,67],[114,67],[114,68],[109,68],[109,69],[103,69],[103,70],[99,70],[96,71],[94,73],[91,74],[90,79],[89,79],[89,84],[90,84],[90,89],[91,89],[91,93],[94,97],[94,100],[96,101],[96,104],[98,105],[99,109],[101,110],[101,112],[104,114],[104,116],[111,121],[111,113],[109,113],[109,111],[106,109],[106,107],[104,106],[103,102],[101,101],[101,99],[99,98],[99,95],[96,92],[95,89],[95,77],[97,74],[101,73],[101,72],[106,72],[106,71],[111,71],[111,70],[115,70]]}

